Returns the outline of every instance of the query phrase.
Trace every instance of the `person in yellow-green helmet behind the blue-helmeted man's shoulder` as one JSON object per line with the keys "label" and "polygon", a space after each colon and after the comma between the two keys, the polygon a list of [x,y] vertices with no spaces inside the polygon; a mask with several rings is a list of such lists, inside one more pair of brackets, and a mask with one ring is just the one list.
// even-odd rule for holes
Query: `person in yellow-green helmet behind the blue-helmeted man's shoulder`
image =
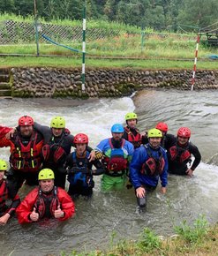
{"label": "person in yellow-green helmet behind the blue-helmeted man's shoulder", "polygon": [[147,136],[144,132],[140,134],[139,129],[136,128],[138,117],[137,114],[130,112],[125,115],[126,126],[124,127],[123,138],[130,141],[134,148],[140,147],[141,144],[147,143]]}

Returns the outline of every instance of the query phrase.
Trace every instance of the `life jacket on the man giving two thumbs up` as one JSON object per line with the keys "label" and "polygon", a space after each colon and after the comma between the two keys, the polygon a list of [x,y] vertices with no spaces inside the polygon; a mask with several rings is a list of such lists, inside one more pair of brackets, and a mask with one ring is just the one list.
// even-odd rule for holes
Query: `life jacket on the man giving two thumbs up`
{"label": "life jacket on the man giving two thumbs up", "polygon": [[60,201],[57,197],[57,188],[54,186],[52,195],[46,197],[43,195],[41,188],[39,188],[37,200],[34,203],[36,212],[40,215],[40,219],[43,217],[54,217],[57,207],[60,205]]}

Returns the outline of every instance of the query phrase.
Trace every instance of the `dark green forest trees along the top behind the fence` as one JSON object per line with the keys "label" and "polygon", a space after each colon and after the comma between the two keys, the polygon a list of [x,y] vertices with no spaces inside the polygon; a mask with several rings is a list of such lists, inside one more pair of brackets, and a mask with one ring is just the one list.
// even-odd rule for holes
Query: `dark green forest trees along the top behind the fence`
{"label": "dark green forest trees along the top behind the fence", "polygon": [[[81,19],[81,0],[37,0],[38,16]],[[0,0],[1,13],[33,15],[34,0]],[[217,22],[217,0],[86,0],[88,19],[117,21],[154,30],[193,31]]]}

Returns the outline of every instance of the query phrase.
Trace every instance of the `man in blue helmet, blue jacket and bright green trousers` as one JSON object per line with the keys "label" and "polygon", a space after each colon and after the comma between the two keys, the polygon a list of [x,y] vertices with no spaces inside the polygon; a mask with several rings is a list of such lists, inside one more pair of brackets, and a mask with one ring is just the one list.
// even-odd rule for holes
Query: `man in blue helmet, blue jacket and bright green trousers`
{"label": "man in blue helmet, blue jacket and bright green trousers", "polygon": [[95,148],[96,157],[100,155],[101,162],[105,166],[105,173],[101,178],[101,189],[105,192],[124,187],[126,170],[134,151],[132,143],[122,138],[124,135],[122,124],[114,124],[111,133],[112,138],[101,140]]}

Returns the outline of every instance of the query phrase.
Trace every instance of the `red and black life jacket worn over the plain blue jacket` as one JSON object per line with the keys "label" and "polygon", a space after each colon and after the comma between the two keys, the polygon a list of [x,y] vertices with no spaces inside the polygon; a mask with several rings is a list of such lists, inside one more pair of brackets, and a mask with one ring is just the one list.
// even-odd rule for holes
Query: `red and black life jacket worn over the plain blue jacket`
{"label": "red and black life jacket worn over the plain blue jacket", "polygon": [[155,158],[152,155],[151,149],[145,145],[147,150],[147,154],[149,158],[147,159],[146,162],[143,163],[142,168],[141,168],[141,173],[148,175],[148,176],[158,176],[162,175],[162,171],[164,169],[165,161],[162,156],[162,150],[161,148],[158,150],[159,157]]}

